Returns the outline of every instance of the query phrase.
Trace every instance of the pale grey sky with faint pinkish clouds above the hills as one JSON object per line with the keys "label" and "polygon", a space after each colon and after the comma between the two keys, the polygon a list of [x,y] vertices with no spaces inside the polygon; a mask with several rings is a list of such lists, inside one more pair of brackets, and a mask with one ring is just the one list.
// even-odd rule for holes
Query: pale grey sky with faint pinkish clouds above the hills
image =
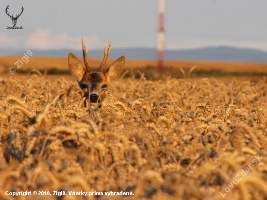
{"label": "pale grey sky with faint pinkish clouds above the hills", "polygon": [[[11,18],[18,27],[12,30]],[[165,48],[267,51],[267,0],[166,0]],[[157,47],[158,0],[1,0],[0,48]]]}

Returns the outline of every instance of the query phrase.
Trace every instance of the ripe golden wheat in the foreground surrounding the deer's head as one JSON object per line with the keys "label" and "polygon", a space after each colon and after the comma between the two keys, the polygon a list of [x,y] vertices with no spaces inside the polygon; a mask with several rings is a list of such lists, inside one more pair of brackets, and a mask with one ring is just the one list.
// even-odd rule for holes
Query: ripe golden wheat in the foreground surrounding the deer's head
{"label": "ripe golden wheat in the foreground surrounding the deer's head", "polygon": [[1,200],[267,198],[264,79],[132,75],[90,107],[64,77],[1,77],[0,92]]}

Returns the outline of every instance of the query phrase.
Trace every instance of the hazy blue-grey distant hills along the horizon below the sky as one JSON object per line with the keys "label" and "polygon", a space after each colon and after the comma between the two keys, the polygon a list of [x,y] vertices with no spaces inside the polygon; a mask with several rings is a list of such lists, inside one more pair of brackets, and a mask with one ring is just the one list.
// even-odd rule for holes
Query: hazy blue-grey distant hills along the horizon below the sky
{"label": "hazy blue-grey distant hills along the horizon below the sky", "polygon": [[[23,55],[27,50],[0,49],[0,55]],[[70,52],[83,57],[82,50],[31,50],[34,56],[67,57]],[[102,58],[103,50],[89,50],[88,57]],[[110,58],[124,55],[126,59],[157,59],[153,48],[112,49]],[[192,50],[165,50],[166,60],[205,60],[267,63],[267,52],[263,50],[234,48],[228,46],[205,47]]]}

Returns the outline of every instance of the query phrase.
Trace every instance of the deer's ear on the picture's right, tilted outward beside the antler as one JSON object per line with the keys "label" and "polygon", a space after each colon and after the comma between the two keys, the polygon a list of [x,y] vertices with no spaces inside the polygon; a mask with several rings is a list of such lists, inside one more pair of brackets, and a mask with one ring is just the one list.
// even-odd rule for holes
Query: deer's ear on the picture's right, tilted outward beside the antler
{"label": "deer's ear on the picture's right, tilted outward beside the antler", "polygon": [[125,63],[125,57],[121,56],[119,59],[117,59],[105,72],[105,75],[109,77],[110,82],[117,79],[124,67]]}

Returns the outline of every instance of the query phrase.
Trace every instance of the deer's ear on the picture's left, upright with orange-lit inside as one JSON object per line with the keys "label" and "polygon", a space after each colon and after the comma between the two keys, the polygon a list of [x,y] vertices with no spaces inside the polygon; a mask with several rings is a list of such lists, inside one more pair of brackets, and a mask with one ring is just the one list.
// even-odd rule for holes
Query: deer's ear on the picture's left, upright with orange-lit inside
{"label": "deer's ear on the picture's left, upright with orange-lit inside", "polygon": [[68,67],[71,74],[80,82],[83,79],[85,70],[83,69],[81,61],[73,53],[68,55]]}

